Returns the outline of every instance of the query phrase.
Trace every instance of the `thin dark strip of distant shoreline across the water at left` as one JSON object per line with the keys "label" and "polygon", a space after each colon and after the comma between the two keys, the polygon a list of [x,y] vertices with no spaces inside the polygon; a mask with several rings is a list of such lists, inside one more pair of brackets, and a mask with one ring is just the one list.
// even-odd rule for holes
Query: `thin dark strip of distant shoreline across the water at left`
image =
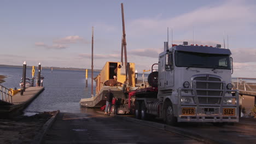
{"label": "thin dark strip of distant shoreline across the water at left", "polygon": [[[5,65],[5,64],[0,64],[0,67],[22,68],[23,66],[22,66],[22,65]],[[28,66],[28,65],[27,65],[27,68],[32,69],[32,66]],[[35,68],[37,68],[37,67],[35,66]],[[42,68],[43,68],[43,69],[49,69],[49,70],[51,70],[51,67],[43,67],[43,65],[42,65]],[[80,69],[80,68],[60,68],[60,67],[53,67],[53,70],[56,70],[56,69],[58,69],[58,70],[79,70],[79,71],[84,71],[84,70],[85,70],[85,69]],[[88,69],[88,70],[90,71],[91,69]],[[94,71],[101,71],[101,70],[94,69]]]}

